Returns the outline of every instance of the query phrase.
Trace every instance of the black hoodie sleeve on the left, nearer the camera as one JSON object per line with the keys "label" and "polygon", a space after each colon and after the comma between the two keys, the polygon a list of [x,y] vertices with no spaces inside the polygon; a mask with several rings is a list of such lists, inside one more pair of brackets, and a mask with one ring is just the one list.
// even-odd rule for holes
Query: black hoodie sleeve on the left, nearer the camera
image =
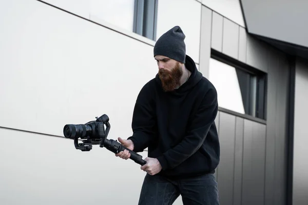
{"label": "black hoodie sleeve on the left, nearer the camera", "polygon": [[134,144],[134,152],[142,152],[148,147],[149,142],[155,136],[155,104],[153,100],[153,92],[149,85],[146,85],[140,91],[132,116],[132,136]]}

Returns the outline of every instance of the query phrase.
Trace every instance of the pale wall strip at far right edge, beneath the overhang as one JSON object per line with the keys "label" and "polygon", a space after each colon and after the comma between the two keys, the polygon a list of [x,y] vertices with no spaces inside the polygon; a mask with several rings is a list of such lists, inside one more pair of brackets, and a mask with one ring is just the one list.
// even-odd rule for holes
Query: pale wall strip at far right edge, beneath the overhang
{"label": "pale wall strip at far right edge, beneath the overhang", "polygon": [[304,205],[308,201],[308,61],[298,58],[295,74],[294,106],[294,155],[293,155],[293,204]]}

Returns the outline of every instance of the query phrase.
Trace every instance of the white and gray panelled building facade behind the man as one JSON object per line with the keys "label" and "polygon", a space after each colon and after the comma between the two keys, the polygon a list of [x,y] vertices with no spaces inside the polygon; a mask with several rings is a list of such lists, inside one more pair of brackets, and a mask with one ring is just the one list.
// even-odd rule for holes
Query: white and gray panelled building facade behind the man
{"label": "white and gray panelled building facade behind the man", "polygon": [[278,36],[274,23],[260,26],[254,8],[238,0],[1,1],[1,204],[138,203],[140,166],[99,146],[76,150],[63,127],[107,114],[108,138],[129,137],[137,95],[158,71],[155,41],[176,25],[218,91],[220,203],[307,204],[308,57],[296,51],[308,45]]}

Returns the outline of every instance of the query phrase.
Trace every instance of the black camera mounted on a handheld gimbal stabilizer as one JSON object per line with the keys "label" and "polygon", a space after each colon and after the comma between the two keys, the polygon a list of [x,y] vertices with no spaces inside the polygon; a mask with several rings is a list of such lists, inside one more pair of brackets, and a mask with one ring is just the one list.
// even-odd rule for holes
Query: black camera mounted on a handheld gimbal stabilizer
{"label": "black camera mounted on a handheld gimbal stabilizer", "polygon": [[[107,139],[107,135],[110,130],[109,117],[107,115],[102,115],[99,118],[95,117],[97,120],[89,121],[86,124],[81,125],[65,125],[63,128],[63,133],[66,138],[73,139],[75,148],[81,151],[90,151],[92,145],[100,145],[100,147],[105,147],[107,150],[117,154],[121,151],[128,150],[130,153],[130,159],[134,162],[139,163],[139,165],[145,165],[146,161],[142,159],[142,156],[133,152],[117,140]],[[106,131],[104,128],[106,125]],[[85,139],[82,140],[83,143],[78,143],[78,138]]]}

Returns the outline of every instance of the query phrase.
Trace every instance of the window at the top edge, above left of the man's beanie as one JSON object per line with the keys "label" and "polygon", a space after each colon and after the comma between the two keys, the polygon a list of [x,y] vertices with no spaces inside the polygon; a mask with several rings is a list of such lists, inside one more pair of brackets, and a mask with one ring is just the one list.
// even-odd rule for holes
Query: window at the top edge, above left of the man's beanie
{"label": "window at the top edge, above left of the man's beanie", "polygon": [[90,0],[91,16],[156,40],[158,0]]}

